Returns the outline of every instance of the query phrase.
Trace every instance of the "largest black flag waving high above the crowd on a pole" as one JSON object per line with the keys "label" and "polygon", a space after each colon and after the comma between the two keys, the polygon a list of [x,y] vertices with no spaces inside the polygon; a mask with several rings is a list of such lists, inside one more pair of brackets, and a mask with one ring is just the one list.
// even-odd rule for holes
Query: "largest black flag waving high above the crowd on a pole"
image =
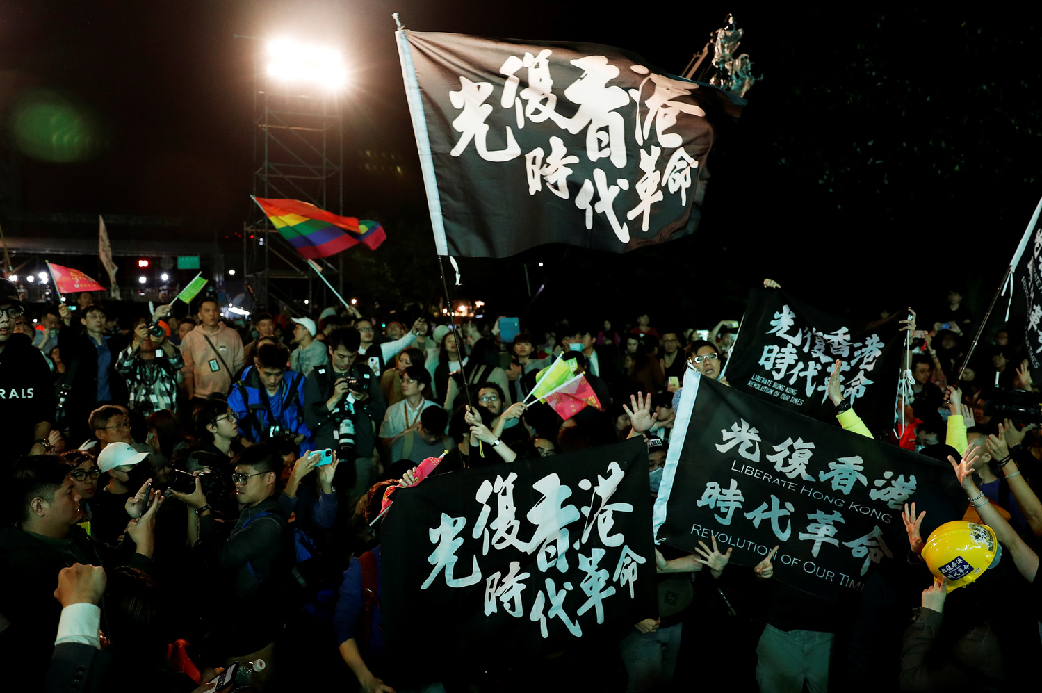
{"label": "largest black flag waving high above the crowd on a pole", "polygon": [[698,225],[743,99],[609,46],[397,35],[439,254],[623,252]]}

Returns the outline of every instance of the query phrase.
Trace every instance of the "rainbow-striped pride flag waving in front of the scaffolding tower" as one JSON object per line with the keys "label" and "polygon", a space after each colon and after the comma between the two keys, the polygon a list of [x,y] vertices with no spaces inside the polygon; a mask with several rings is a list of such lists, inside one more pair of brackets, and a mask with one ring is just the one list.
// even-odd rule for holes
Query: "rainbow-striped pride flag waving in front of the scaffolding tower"
{"label": "rainbow-striped pride flag waving in front of the scaffolding tower", "polygon": [[282,238],[307,259],[336,255],[359,243],[375,250],[387,239],[383,227],[368,219],[338,217],[300,200],[254,197],[253,201]]}

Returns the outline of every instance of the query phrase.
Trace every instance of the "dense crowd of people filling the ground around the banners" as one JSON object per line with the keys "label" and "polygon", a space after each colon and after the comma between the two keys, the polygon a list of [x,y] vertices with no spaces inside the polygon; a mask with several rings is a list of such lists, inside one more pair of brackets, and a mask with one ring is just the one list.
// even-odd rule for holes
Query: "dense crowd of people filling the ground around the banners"
{"label": "dense crowd of people filling the ground around the banners", "polygon": [[[455,675],[403,685],[417,672],[383,651],[378,598],[384,489],[415,482],[429,457],[444,455],[438,474],[467,473],[641,436],[654,494],[686,372],[726,385],[739,329],[738,320],[700,330],[679,316],[571,316],[523,320],[529,331],[506,340],[499,320],[412,311],[233,320],[202,297],[189,315],[165,305],[138,316],[92,294],[30,307],[0,279],[5,670],[32,672],[46,690],[148,682],[185,692],[547,680],[635,692],[696,683],[991,691],[1031,680],[1042,653],[1042,503],[1031,486],[1042,441],[1037,414],[1004,418],[986,400],[1026,397],[1037,412],[1039,390],[1004,327],[959,377],[974,321],[952,291],[920,319],[928,324],[905,321],[914,383],[894,429],[852,422],[838,367],[829,395],[845,428],[950,457],[953,493],[971,502],[945,541],[985,526],[1002,547],[974,584],[932,583],[948,554],[923,538],[936,523],[914,506],[907,560],[901,551],[840,604],[777,584],[773,552],[750,570],[728,567],[715,538],[690,555],[660,546],[659,612],[625,633],[584,639],[527,673],[461,653]],[[524,403],[559,356],[601,409],[562,420]],[[221,672],[227,680],[210,686]]]}

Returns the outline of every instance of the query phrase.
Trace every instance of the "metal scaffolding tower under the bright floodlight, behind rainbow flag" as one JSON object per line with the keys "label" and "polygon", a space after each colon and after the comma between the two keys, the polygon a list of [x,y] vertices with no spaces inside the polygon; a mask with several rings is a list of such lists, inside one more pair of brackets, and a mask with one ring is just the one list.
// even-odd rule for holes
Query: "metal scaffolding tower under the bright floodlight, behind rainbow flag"
{"label": "metal scaffolding tower under the bright floodlight, behind rainbow flag", "polygon": [[[344,122],[338,91],[320,84],[289,84],[268,74],[265,54],[253,65],[253,195],[311,202],[344,214]],[[246,281],[258,305],[290,305],[282,280],[307,281],[315,304],[314,272],[253,205],[243,229]],[[340,281],[338,267],[321,261],[326,276]],[[273,282],[278,280],[278,283]],[[318,289],[324,291],[319,282]],[[300,295],[299,293],[297,294]]]}

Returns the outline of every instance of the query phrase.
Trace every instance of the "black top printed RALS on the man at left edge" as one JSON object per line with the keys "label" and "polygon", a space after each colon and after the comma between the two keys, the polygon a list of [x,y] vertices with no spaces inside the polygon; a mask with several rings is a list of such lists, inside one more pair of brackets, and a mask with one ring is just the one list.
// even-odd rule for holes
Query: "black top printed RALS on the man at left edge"
{"label": "black top printed RALS on the man at left edge", "polygon": [[38,423],[54,420],[54,386],[44,353],[27,335],[11,335],[0,351],[0,421],[11,459],[29,451]]}

